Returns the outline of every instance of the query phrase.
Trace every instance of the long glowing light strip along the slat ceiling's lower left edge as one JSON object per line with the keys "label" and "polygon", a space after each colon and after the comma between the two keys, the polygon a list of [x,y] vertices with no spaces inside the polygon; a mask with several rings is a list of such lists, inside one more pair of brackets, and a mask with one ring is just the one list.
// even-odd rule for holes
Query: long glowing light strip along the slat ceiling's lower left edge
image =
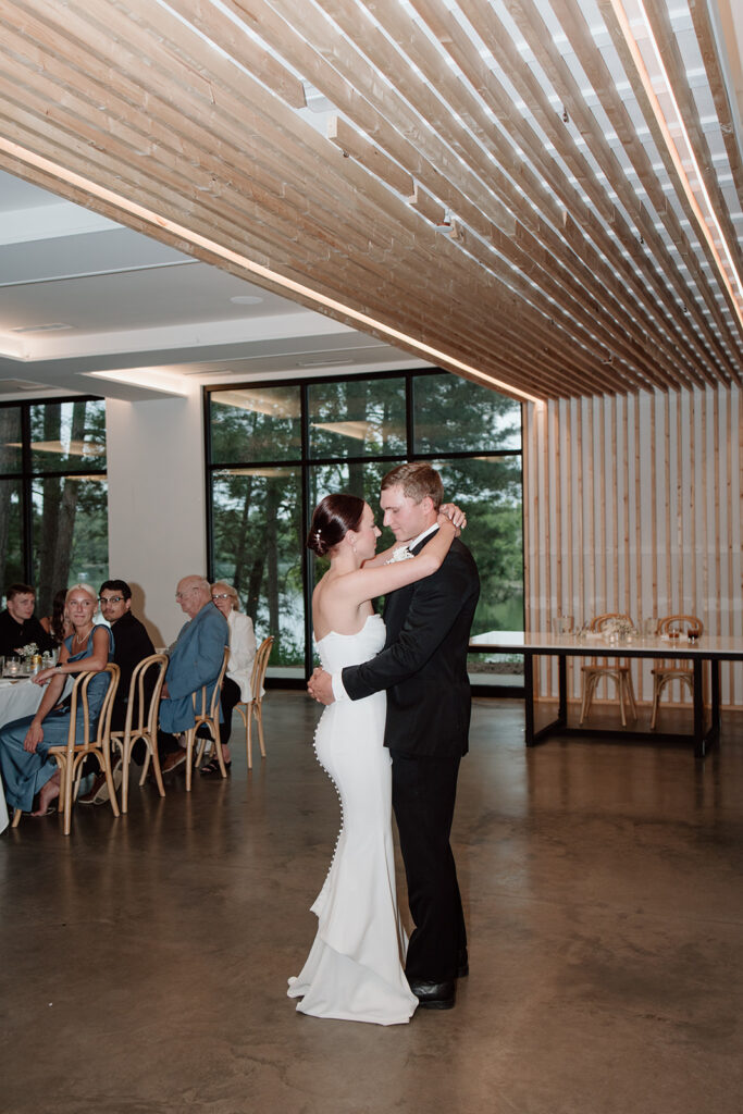
{"label": "long glowing light strip along the slat ceiling's lower left edge", "polygon": [[110,189],[106,189],[105,186],[99,186],[97,183],[90,182],[88,178],[84,178],[79,174],[75,174],[72,170],[68,170],[66,167],[61,167],[58,164],[50,162],[41,155],[37,155],[33,152],[27,150],[25,147],[20,147],[18,144],[12,143],[12,140],[6,139],[4,136],[0,136],[0,150],[4,150],[12,158],[18,158],[20,162],[27,163],[29,166],[35,166],[38,169],[43,170],[45,174],[50,174],[52,177],[61,178],[62,182],[67,182],[71,186],[84,189],[94,197],[99,197],[107,204],[115,205],[117,208],[130,213],[131,216],[136,216],[138,219],[145,221],[147,224],[151,224],[158,228],[164,228],[182,240],[188,241],[195,246],[205,248],[213,255],[218,255],[221,258],[229,263],[235,263],[237,266],[250,271],[254,275],[258,275],[262,278],[266,278],[268,282],[283,286],[284,290],[289,290],[294,294],[301,294],[303,297],[315,302],[317,305],[324,305],[329,310],[342,313],[346,317],[351,317],[353,321],[356,321],[360,325],[377,329],[391,340],[402,341],[404,344],[410,344],[422,355],[431,358],[436,362],[443,361],[444,363],[449,363],[452,367],[458,368],[460,371],[475,375],[488,387],[497,387],[509,394],[518,394],[519,398],[525,399],[527,402],[541,404],[544,401],[535,394],[528,394],[526,391],[521,391],[517,387],[511,387],[510,383],[505,383],[502,380],[496,379],[493,375],[488,375],[486,372],[479,371],[477,368],[472,368],[470,364],[463,363],[461,360],[457,360],[447,352],[431,348],[431,345],[424,344],[422,341],[416,340],[407,333],[392,329],[390,325],[385,325],[375,317],[370,317],[365,313],[360,313],[350,305],[344,305],[342,302],[336,302],[334,299],[326,297],[324,294],[320,294],[317,291],[311,290],[309,286],[303,286],[301,283],[294,282],[292,278],[286,278],[284,275],[281,275],[275,271],[271,271],[268,267],[264,267],[262,264],[253,262],[253,260],[248,260],[245,255],[238,255],[237,252],[233,252],[228,247],[223,247],[222,244],[207,240],[205,236],[202,236],[196,232],[192,232],[189,228],[185,228],[183,225],[176,224],[167,217],[153,213],[151,209],[137,205],[136,202],[129,201],[128,197],[121,197],[120,194],[115,194]]}

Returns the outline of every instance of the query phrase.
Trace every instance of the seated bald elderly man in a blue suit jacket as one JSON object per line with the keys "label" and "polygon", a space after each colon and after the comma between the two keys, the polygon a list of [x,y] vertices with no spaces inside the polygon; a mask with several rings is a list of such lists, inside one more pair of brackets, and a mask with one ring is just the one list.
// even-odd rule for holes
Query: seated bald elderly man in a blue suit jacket
{"label": "seated bald elderly man in a blue suit jacket", "polygon": [[[196,722],[194,693],[203,685],[211,696],[216,683],[224,648],[229,643],[229,627],[224,615],[212,603],[209,582],[203,576],[185,576],[175,594],[188,616],[170,651],[160,701],[160,750],[166,753],[163,773],[169,773],[186,761],[186,751],[173,735],[188,731]],[[169,752],[169,753],[168,753]]]}

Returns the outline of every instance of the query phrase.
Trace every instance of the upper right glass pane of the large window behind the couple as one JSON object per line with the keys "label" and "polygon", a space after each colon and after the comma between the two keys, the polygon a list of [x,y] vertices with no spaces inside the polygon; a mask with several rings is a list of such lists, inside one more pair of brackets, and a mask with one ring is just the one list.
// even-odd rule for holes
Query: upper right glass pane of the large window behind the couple
{"label": "upper right glass pane of the large window behind the couple", "polygon": [[413,379],[416,452],[521,448],[521,407],[458,375]]}

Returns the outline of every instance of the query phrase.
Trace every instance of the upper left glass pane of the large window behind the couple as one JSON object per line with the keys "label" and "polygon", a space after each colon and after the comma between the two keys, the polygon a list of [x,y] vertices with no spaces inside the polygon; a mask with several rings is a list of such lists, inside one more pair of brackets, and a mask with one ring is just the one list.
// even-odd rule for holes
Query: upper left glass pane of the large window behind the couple
{"label": "upper left glass pane of the large window behind the couple", "polygon": [[301,457],[299,387],[215,391],[209,399],[214,463]]}

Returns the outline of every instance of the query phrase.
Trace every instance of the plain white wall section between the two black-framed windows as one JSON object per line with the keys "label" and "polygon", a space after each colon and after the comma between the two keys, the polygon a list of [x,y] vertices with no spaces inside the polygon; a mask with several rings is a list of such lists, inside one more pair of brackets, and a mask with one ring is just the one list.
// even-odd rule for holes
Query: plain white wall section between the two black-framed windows
{"label": "plain white wall section between the two black-framed windows", "polygon": [[183,576],[206,574],[202,394],[106,403],[108,549],[113,578],[131,585],[133,610],[156,646],[185,616]]}

